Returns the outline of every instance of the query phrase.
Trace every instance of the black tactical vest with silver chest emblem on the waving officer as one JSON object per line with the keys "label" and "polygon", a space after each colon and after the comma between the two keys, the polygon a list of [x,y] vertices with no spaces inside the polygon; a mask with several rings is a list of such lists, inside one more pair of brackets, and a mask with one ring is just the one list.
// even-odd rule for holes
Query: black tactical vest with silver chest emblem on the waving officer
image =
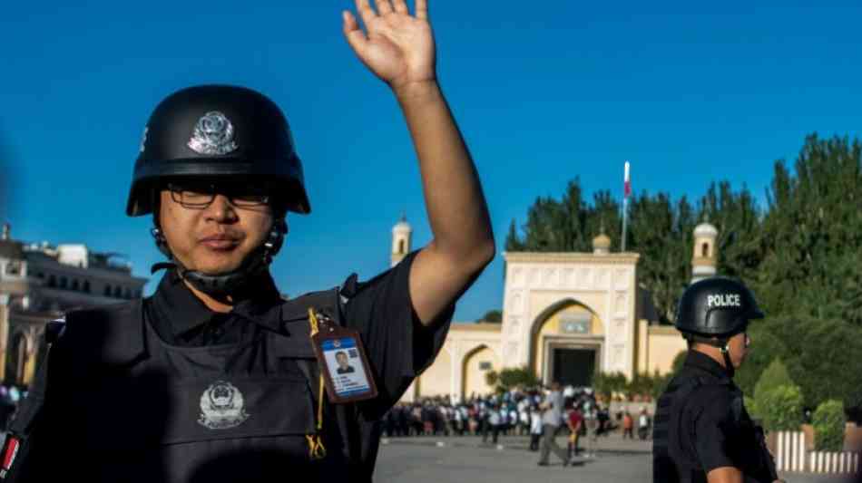
{"label": "black tactical vest with silver chest emblem on the waving officer", "polygon": [[[308,310],[341,324],[340,303],[337,289],[304,295],[280,306],[278,332],[205,347],[164,343],[142,301],[68,314],[63,350],[42,362],[46,384],[34,382],[12,425],[33,448],[7,479],[20,470],[25,481],[370,481],[379,424],[355,405],[325,404],[326,457],[309,451],[319,374]],[[43,394],[51,414],[40,421]],[[64,445],[44,450],[45,438]]]}

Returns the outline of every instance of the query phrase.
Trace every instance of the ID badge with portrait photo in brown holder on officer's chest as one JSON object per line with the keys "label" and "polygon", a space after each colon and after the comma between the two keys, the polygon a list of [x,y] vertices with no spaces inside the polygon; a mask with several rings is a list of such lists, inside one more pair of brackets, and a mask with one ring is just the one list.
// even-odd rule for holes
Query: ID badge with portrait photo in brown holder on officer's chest
{"label": "ID badge with portrait photo in brown holder on officer's chest", "polygon": [[333,324],[326,315],[316,314],[318,332],[311,345],[333,403],[365,401],[377,397],[377,385],[358,331]]}

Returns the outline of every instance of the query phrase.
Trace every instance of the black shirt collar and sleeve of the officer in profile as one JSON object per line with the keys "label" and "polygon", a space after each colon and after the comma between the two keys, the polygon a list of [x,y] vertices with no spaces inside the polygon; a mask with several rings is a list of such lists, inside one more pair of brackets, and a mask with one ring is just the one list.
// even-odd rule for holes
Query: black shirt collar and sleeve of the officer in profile
{"label": "black shirt collar and sleeve of the officer in profile", "polygon": [[[729,380],[730,372],[709,355],[689,351],[679,375],[681,378],[701,377],[713,380]],[[732,382],[731,382],[732,383]],[[732,448],[738,424],[732,411],[733,389],[729,385],[700,387],[682,415],[682,448],[693,449],[704,473],[721,467],[741,467]],[[689,440],[693,434],[694,440]]]}

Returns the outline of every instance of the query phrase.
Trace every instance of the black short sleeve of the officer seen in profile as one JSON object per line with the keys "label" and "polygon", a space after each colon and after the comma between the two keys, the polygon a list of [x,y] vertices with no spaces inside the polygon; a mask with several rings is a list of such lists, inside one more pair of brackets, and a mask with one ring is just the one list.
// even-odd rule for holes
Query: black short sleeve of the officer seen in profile
{"label": "black short sleeve of the officer seen in profile", "polygon": [[704,472],[721,467],[739,467],[730,458],[730,441],[733,440],[735,424],[730,410],[727,391],[710,391],[699,394],[699,401],[706,401],[694,414],[694,447]]}

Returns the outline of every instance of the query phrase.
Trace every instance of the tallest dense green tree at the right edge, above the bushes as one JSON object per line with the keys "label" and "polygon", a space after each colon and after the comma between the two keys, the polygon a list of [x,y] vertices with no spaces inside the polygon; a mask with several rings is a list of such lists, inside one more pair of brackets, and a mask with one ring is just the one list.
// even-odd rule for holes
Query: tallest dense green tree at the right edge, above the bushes
{"label": "tallest dense green tree at the right edge, above the bushes", "polygon": [[[862,324],[862,146],[808,136],[792,171],[775,165],[763,220],[757,293],[768,314]],[[847,290],[850,285],[850,290]]]}

